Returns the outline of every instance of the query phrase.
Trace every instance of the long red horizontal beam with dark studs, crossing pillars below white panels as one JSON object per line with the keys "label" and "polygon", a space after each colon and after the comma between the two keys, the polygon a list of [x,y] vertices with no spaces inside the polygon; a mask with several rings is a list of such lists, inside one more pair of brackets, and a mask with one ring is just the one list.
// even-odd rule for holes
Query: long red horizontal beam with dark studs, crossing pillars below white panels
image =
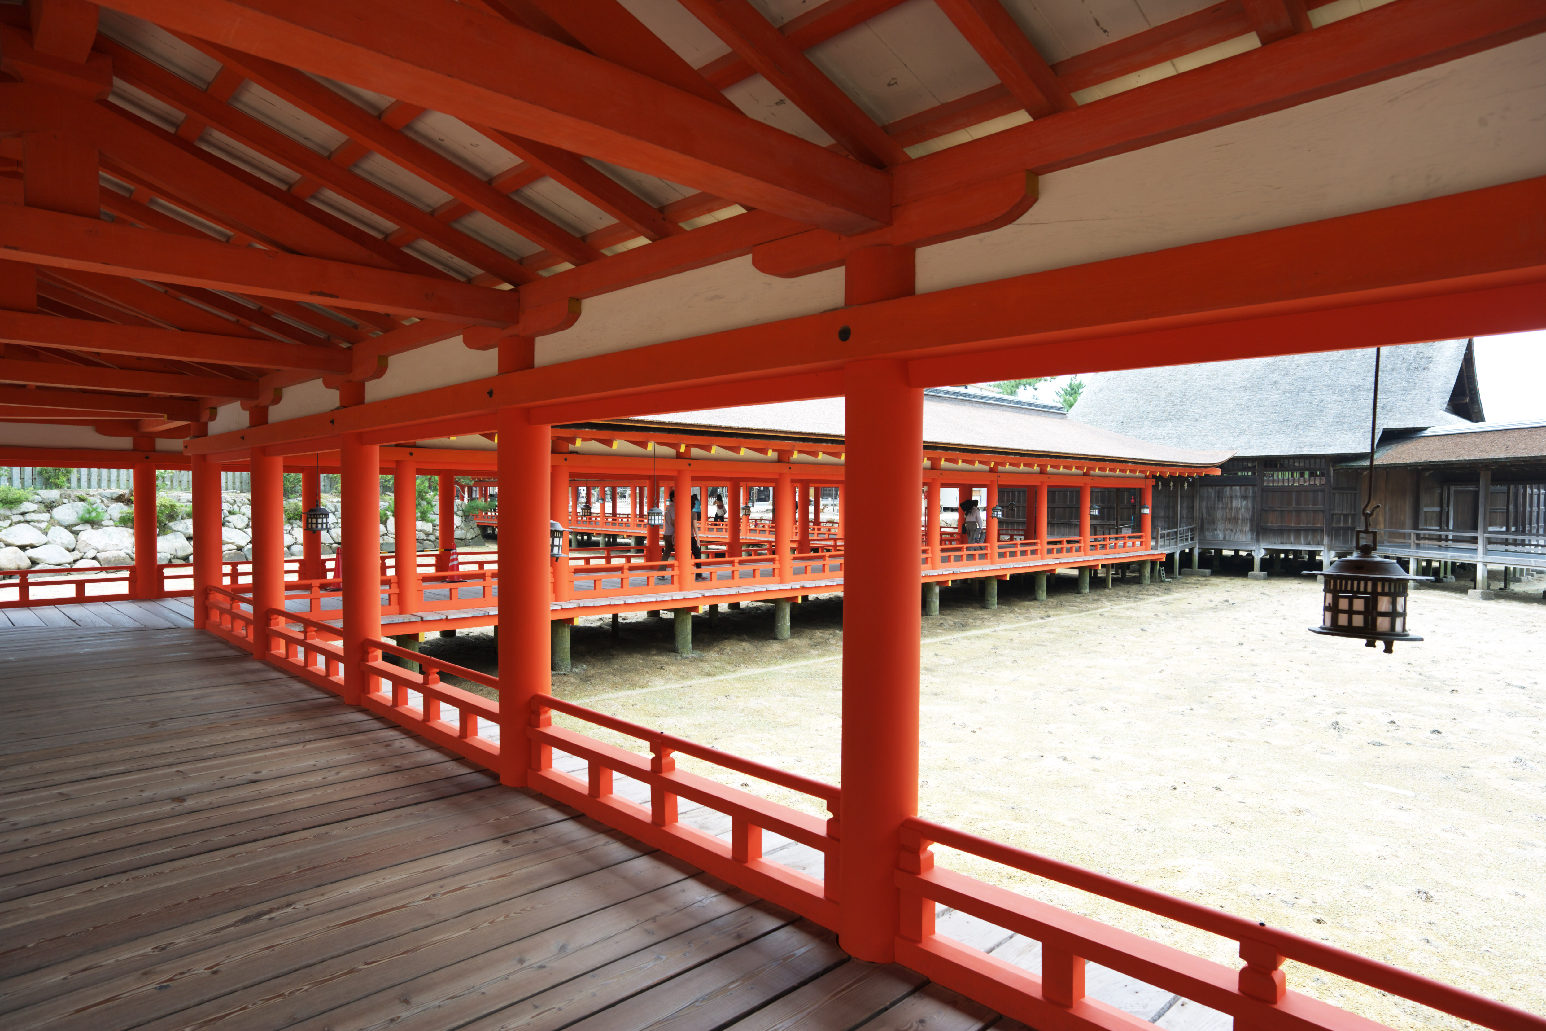
{"label": "long red horizontal beam with dark studs, crossing pillars below white panels", "polygon": [[[1272,352],[1517,332],[1546,328],[1543,284],[1546,178],[617,351],[249,433],[269,444],[504,405],[549,407],[705,385],[722,385],[733,399],[742,383],[761,377],[830,371],[880,356],[949,359],[954,371],[937,382],[972,382],[989,377],[974,371],[968,356],[1056,343],[1084,363],[1095,354],[1082,346],[1087,342],[1155,331],[1177,332],[1173,346],[1147,351],[1136,362],[1173,365],[1195,360],[1181,332],[1187,328],[1306,314],[1320,315],[1317,332],[1277,339]],[[1367,312],[1373,305],[1385,306],[1384,328],[1348,315],[1357,334],[1325,343],[1345,309]],[[1248,334],[1232,340],[1209,349],[1207,360],[1260,354]],[[1037,362],[1045,359],[1039,354]],[[1039,369],[1027,356],[1023,366],[999,369],[991,379]],[[635,402],[628,407],[643,410]],[[233,445],[210,437],[193,447]]]}

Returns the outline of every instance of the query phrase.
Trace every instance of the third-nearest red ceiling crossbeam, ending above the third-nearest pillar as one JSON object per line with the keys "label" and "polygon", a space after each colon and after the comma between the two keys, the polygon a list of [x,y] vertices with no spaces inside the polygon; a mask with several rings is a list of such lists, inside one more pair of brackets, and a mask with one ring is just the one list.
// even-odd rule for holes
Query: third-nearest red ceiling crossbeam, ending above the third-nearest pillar
{"label": "third-nearest red ceiling crossbeam, ending above the third-nearest pillar", "polygon": [[0,311],[0,342],[311,373],[348,373],[354,368],[354,356],[334,346],[114,326],[107,322],[53,318],[14,311]]}

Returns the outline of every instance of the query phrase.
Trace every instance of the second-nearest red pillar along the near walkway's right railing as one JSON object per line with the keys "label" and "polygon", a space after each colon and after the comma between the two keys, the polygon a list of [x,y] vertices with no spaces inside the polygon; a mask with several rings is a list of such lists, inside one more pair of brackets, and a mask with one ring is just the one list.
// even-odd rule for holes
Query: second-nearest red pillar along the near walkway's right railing
{"label": "second-nearest red pillar along the near walkway's right railing", "polygon": [[[558,476],[549,428],[533,427],[523,408],[501,408],[499,493],[512,504],[499,509],[499,782],[527,784],[532,742],[526,736],[530,703],[552,691],[552,626],[549,583],[553,580],[549,515]],[[521,504],[513,504],[519,498]],[[563,560],[560,560],[563,561]]]}

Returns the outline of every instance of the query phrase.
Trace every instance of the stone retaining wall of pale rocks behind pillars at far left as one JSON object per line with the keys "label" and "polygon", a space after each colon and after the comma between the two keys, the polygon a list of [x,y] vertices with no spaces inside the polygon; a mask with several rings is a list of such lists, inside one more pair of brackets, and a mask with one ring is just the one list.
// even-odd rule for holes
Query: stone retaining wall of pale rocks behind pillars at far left
{"label": "stone retaining wall of pale rocks behind pillars at far left", "polygon": [[[158,499],[170,499],[190,510],[193,496],[187,492],[158,492]],[[294,499],[289,502],[294,507]],[[331,527],[322,532],[322,553],[332,555],[343,539],[339,524],[339,499],[323,495],[322,504],[332,512]],[[0,509],[0,572],[22,569],[80,569],[96,566],[128,566],[135,561],[135,530],[117,526],[125,513],[133,513],[135,495],[127,490],[36,490],[11,509]],[[221,495],[221,552],[224,561],[252,558],[252,498],[244,493]],[[394,521],[391,498],[382,499],[380,547],[393,550]],[[456,541],[464,544],[479,538],[478,527],[467,521],[462,502],[456,504]],[[419,550],[439,547],[439,507],[433,521],[417,522]],[[301,553],[300,521],[284,524],[284,553]],[[156,561],[181,563],[193,555],[193,519],[184,516],[156,527]]]}

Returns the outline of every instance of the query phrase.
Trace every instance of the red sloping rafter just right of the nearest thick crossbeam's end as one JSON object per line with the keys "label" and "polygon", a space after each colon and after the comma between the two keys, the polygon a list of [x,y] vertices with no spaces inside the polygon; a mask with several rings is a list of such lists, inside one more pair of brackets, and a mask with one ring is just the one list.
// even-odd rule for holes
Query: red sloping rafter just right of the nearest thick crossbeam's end
{"label": "red sloping rafter just right of the nearest thick crossbeam's end", "polygon": [[897,141],[748,0],[682,0],[682,6],[856,159],[877,167],[908,161]]}

